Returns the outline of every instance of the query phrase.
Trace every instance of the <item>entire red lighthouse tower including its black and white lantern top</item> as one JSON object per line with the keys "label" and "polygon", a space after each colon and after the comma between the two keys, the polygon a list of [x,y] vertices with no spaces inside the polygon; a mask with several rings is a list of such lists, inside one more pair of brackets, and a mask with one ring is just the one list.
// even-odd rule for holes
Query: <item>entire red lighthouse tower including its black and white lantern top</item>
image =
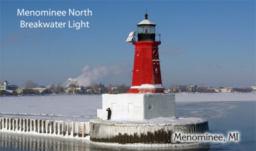
{"label": "entire red lighthouse tower including its black and white lantern top", "polygon": [[146,13],[145,19],[137,26],[138,41],[134,41],[134,38],[128,41],[135,45],[135,54],[132,87],[127,93],[163,93],[158,53],[158,45],[161,44],[161,41],[156,41],[156,24],[148,20]]}

